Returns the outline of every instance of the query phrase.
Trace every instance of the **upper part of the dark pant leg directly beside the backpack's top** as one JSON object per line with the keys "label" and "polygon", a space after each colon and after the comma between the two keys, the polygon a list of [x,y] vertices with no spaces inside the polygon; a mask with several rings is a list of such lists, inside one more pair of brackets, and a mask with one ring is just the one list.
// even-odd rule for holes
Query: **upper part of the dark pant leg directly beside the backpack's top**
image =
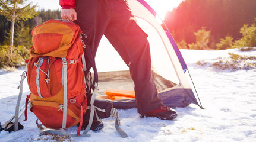
{"label": "upper part of the dark pant leg directly beside the backpack's top", "polygon": [[76,0],[75,6],[75,24],[78,24],[87,35],[86,41],[95,57],[100,39],[109,22],[109,3],[107,0]]}

